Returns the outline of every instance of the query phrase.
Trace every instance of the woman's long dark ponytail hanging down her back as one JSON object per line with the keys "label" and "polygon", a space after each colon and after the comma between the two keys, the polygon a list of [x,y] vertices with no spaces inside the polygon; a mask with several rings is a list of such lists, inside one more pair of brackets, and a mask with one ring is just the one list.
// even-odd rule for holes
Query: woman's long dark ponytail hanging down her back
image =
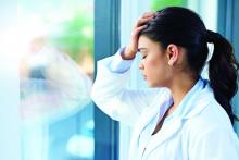
{"label": "woman's long dark ponytail hanging down her back", "polygon": [[236,118],[232,113],[231,98],[236,95],[238,85],[238,66],[234,48],[218,33],[206,30],[206,41],[214,44],[212,59],[209,62],[210,86],[215,99],[225,109],[231,123]]}

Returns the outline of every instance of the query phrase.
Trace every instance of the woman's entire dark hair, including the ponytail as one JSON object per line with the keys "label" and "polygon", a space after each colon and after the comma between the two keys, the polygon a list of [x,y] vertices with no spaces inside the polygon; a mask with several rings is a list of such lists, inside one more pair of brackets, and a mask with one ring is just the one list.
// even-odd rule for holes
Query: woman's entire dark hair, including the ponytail
{"label": "woman's entire dark hair, including the ponytail", "polygon": [[207,30],[199,15],[189,9],[169,7],[156,12],[148,27],[140,32],[166,49],[169,44],[187,50],[189,69],[199,77],[205,64],[209,48],[214,44],[213,56],[209,62],[210,86],[217,102],[225,109],[231,123],[234,120],[230,104],[237,93],[238,62],[234,49],[218,33]]}

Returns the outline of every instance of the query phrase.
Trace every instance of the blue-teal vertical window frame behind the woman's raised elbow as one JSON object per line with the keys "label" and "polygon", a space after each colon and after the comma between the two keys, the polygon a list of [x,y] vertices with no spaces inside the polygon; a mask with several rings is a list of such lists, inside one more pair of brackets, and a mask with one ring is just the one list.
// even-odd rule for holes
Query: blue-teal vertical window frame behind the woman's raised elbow
{"label": "blue-teal vertical window frame behind the woman's raised elbow", "polygon": [[[120,48],[121,0],[95,0],[95,77],[97,61]],[[103,40],[102,40],[103,39]],[[93,109],[95,160],[118,160],[118,122]]]}

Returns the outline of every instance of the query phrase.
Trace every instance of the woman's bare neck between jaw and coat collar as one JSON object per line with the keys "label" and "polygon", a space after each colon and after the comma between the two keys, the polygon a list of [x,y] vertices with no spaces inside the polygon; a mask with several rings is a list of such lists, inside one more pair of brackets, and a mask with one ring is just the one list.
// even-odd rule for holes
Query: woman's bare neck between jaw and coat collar
{"label": "woman's bare neck between jaw and coat collar", "polygon": [[167,115],[169,115],[177,109],[183,98],[194,86],[197,81],[198,78],[185,74],[175,76],[175,78],[171,83],[172,85],[169,85],[174,103],[169,108]]}

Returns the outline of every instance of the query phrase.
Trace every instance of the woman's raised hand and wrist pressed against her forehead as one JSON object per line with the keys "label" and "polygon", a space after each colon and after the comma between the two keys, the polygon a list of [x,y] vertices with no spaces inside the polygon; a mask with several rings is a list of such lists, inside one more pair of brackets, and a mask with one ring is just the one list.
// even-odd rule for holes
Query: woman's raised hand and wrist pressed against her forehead
{"label": "woman's raised hand and wrist pressed against her forehead", "polygon": [[139,33],[147,27],[147,23],[155,16],[153,12],[143,13],[135,24],[129,44],[126,46],[125,51],[122,53],[122,58],[125,60],[131,60],[135,58],[138,51]]}

